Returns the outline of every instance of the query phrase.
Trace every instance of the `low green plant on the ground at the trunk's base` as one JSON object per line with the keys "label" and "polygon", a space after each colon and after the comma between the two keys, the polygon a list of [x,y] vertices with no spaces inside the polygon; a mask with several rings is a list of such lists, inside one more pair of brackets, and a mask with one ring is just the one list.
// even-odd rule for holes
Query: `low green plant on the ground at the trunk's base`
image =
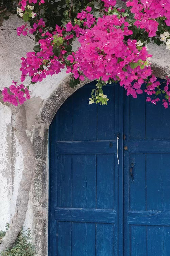
{"label": "low green plant on the ground at the trunk's base", "polygon": [[[9,224],[6,224],[6,230],[9,228]],[[6,231],[0,231],[0,243],[5,236]],[[35,250],[31,240],[31,230],[27,229],[23,231],[23,227],[18,234],[16,242],[11,249],[7,249],[5,252],[0,253],[1,256],[35,256]]]}

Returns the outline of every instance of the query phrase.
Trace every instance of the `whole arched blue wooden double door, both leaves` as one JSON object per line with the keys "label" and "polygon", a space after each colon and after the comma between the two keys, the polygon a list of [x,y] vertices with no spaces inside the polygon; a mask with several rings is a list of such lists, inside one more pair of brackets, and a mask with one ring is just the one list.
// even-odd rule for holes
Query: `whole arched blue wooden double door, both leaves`
{"label": "whole arched blue wooden double door, both leaves", "polygon": [[88,105],[91,86],[50,127],[49,255],[169,256],[169,110],[116,85]]}

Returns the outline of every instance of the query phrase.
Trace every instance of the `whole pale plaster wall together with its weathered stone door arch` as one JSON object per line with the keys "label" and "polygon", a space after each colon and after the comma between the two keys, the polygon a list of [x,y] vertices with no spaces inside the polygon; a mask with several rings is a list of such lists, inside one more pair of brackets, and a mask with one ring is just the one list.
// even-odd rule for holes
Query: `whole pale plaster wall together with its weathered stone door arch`
{"label": "whole pale plaster wall together with its weathered stone door arch", "polygon": [[[17,17],[11,17],[1,28],[16,28],[21,24],[22,21]],[[20,58],[32,51],[33,46],[33,40],[17,37],[16,31],[0,31],[1,89],[9,86],[12,80],[19,81]],[[155,47],[150,44],[148,47],[153,54],[154,73],[165,77],[170,73],[169,51],[164,46]],[[48,127],[58,108],[75,91],[68,83],[69,75],[65,70],[56,76],[49,76],[30,87],[32,98],[25,103],[27,134],[36,157],[36,171],[24,225],[32,229],[37,256],[46,256],[48,249]],[[0,105],[0,117],[0,229],[4,229],[14,213],[23,163],[21,147],[12,129],[11,111]]]}

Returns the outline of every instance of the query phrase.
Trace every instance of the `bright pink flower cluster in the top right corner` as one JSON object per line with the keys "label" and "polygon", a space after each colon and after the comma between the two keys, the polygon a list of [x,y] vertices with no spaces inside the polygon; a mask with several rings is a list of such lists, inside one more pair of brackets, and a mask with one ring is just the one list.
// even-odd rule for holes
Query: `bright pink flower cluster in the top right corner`
{"label": "bright pink flower cluster in the top right corner", "polygon": [[165,23],[170,26],[170,1],[169,0],[129,0],[127,6],[132,6],[131,12],[135,14],[134,25],[144,28],[149,32],[149,37],[154,37],[158,28],[156,18],[165,17]]}

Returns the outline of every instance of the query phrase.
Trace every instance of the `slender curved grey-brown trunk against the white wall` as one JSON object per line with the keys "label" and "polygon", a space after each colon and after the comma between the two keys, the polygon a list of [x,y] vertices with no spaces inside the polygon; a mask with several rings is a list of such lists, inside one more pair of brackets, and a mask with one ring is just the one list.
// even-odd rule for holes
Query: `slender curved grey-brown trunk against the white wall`
{"label": "slender curved grey-brown trunk against the white wall", "polygon": [[[2,102],[2,95],[0,95],[0,102]],[[10,227],[6,231],[0,243],[0,252],[6,248],[13,246],[26,218],[26,212],[28,209],[29,191],[31,188],[31,182],[35,173],[35,156],[31,141],[27,137],[26,133],[26,112],[24,105],[17,107],[8,105],[14,114],[13,127],[22,147],[23,153],[23,171],[22,177],[18,188],[18,196],[16,200],[15,214],[11,220]]]}

